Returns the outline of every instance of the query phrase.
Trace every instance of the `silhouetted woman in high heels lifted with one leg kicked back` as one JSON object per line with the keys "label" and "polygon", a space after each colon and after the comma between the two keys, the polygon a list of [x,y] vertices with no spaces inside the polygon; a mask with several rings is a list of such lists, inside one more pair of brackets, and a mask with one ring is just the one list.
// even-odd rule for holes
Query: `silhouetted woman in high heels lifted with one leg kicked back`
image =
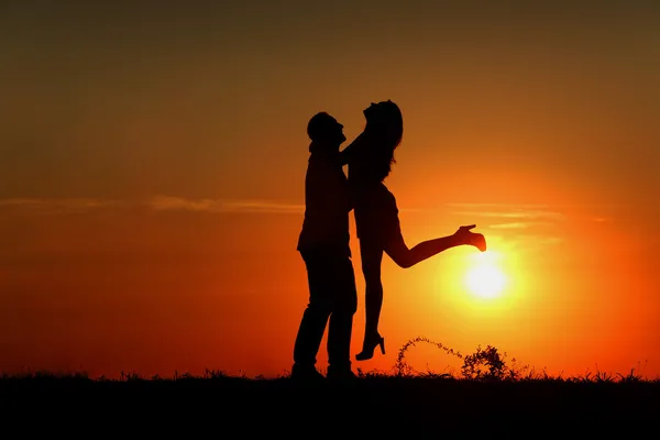
{"label": "silhouetted woman in high heels lifted with one leg kicked back", "polygon": [[396,199],[383,184],[395,163],[394,151],[402,142],[403,116],[398,106],[387,100],[372,102],[364,110],[364,131],[341,152],[342,164],[349,165],[349,187],[366,287],[364,340],[362,352],[355,355],[358,361],[372,359],[378,345],[385,354],[385,339],[378,332],[383,305],[383,252],[398,266],[407,268],[458,245],[470,244],[482,252],[486,250],[484,237],[471,232],[474,224],[461,227],[452,235],[428,240],[408,249],[399,226]]}

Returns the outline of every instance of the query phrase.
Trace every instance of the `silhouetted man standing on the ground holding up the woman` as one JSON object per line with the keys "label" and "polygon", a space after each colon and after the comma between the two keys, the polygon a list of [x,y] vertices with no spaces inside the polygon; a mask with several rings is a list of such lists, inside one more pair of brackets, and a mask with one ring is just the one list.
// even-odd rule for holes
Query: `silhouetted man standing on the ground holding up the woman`
{"label": "silhouetted man standing on the ground holding up the woman", "polygon": [[316,369],[316,358],[328,326],[327,377],[351,378],[355,377],[350,345],[358,290],[349,245],[352,206],[339,155],[346,138],[343,125],[326,112],[309,120],[307,134],[311,143],[305,177],[305,220],[297,249],[307,268],[309,304],[294,345],[292,377],[323,378]]}

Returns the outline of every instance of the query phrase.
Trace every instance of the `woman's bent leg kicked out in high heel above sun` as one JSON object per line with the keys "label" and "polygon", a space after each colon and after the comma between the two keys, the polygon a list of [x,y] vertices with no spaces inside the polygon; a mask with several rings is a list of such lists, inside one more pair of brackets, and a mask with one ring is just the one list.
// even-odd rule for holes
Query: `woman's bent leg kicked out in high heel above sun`
{"label": "woman's bent leg kicked out in high heel above sun", "polygon": [[457,232],[448,237],[422,241],[413,249],[408,249],[400,230],[389,240],[385,246],[385,253],[400,267],[408,268],[433,255],[451,248],[471,244],[484,252],[486,241],[480,233],[471,232],[475,224],[461,227]]}

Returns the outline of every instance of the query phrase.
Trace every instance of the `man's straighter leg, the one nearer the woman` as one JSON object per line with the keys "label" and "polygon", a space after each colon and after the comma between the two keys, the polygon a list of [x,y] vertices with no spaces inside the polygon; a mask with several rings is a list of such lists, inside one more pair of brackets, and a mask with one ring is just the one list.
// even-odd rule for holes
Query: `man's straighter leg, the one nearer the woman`
{"label": "man's straighter leg, the one nearer the woman", "polygon": [[334,272],[334,301],[328,329],[328,375],[350,376],[351,333],[358,309],[355,273],[349,256],[338,256],[331,265]]}

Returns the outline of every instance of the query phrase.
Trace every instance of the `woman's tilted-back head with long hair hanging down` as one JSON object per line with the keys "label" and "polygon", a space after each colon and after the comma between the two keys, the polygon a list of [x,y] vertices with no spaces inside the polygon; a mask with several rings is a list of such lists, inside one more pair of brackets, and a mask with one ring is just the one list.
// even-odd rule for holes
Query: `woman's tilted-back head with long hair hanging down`
{"label": "woman's tilted-back head with long hair hanging down", "polygon": [[373,103],[364,110],[366,127],[364,133],[373,144],[372,166],[375,177],[385,179],[395,163],[394,151],[402,143],[404,117],[398,106],[391,100]]}

